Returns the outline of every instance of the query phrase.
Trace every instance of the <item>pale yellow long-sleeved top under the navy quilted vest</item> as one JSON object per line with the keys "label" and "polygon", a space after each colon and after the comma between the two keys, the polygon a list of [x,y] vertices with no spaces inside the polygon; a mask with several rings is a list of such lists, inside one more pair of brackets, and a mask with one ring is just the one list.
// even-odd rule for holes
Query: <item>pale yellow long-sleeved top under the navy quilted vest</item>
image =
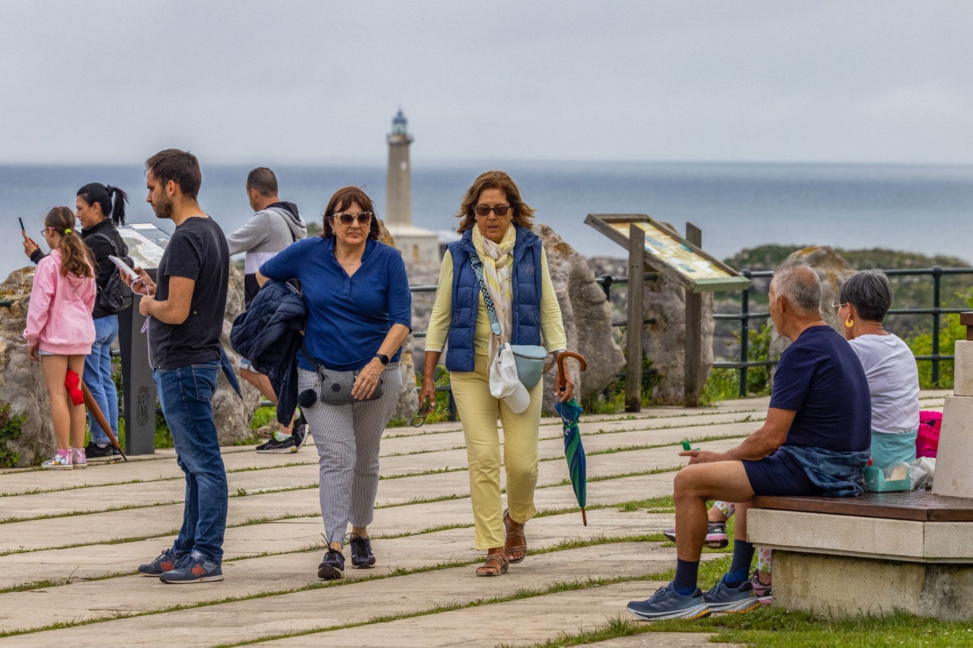
{"label": "pale yellow long-sleeved top under the navy quilted vest", "polygon": [[[483,292],[478,290],[480,305],[477,308],[477,328],[474,334],[474,353],[486,356],[489,353],[489,316],[486,314]],[[554,291],[551,272],[548,270],[547,253],[541,250],[541,338],[549,352],[567,348],[564,323],[560,319],[558,295]],[[426,351],[442,352],[446,336],[450,332],[452,319],[452,255],[447,250],[443,265],[439,268],[439,285],[436,287],[436,303],[429,317],[429,332],[426,333]]]}

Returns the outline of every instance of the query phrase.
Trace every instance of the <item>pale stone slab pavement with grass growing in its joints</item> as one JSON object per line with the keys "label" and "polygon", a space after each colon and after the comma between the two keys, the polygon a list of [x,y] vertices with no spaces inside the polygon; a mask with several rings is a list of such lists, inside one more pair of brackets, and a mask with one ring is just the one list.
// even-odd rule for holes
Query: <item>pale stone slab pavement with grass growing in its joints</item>
{"label": "pale stone slab pavement with grass growing in its joints", "polygon": [[[945,393],[923,392],[923,409],[941,408]],[[171,545],[181,520],[172,450],[86,470],[0,471],[0,645],[531,646],[592,630],[630,618],[625,604],[649,596],[675,564],[670,543],[644,537],[673,525],[670,505],[620,505],[671,495],[682,439],[730,448],[760,425],[767,403],[583,417],[588,527],[565,482],[560,422],[545,419],[531,553],[498,578],[474,574],[483,557],[458,424],[386,430],[370,528],[378,565],[348,563],[328,583],[317,578],[324,529],[309,442],[293,455],[224,449],[226,580],[197,585],[135,573]],[[601,643],[706,638],[652,632]]]}

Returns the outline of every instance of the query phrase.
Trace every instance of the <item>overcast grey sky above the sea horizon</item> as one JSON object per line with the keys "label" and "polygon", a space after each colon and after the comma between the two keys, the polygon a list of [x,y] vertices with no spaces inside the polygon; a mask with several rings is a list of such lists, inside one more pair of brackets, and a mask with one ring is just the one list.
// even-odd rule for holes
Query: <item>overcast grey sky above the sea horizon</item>
{"label": "overcast grey sky above the sea horizon", "polygon": [[[0,163],[973,163],[973,3],[0,0]],[[965,45],[964,45],[965,44]]]}

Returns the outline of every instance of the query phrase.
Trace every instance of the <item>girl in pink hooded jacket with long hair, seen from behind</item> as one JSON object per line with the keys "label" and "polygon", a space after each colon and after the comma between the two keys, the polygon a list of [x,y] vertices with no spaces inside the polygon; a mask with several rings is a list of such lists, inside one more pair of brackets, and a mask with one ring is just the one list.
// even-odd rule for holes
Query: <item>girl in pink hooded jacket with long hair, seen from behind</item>
{"label": "girl in pink hooded jacket with long hair, seen from behind", "polygon": [[30,347],[27,355],[42,360],[51,394],[57,454],[43,465],[84,468],[85,405],[79,383],[94,342],[94,268],[69,208],[54,207],[44,219],[43,234],[51,254],[41,259],[34,272],[23,331]]}

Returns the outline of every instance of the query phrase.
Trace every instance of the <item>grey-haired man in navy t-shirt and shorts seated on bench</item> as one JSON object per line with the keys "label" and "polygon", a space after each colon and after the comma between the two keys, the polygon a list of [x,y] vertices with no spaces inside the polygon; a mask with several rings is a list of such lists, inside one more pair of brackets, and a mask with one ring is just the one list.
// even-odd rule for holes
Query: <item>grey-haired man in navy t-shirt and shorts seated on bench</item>
{"label": "grey-haired man in navy t-shirt and shorts seated on bench", "polygon": [[[691,450],[675,476],[675,579],[629,611],[645,620],[695,619],[760,605],[748,578],[753,545],[746,509],[754,495],[853,496],[871,444],[872,405],[861,362],[845,338],[821,319],[821,284],[803,264],[785,264],[771,282],[777,332],[792,341],[781,354],[767,420],[725,453]],[[730,571],[703,594],[697,572],[706,534],[706,500],[737,504]]]}

